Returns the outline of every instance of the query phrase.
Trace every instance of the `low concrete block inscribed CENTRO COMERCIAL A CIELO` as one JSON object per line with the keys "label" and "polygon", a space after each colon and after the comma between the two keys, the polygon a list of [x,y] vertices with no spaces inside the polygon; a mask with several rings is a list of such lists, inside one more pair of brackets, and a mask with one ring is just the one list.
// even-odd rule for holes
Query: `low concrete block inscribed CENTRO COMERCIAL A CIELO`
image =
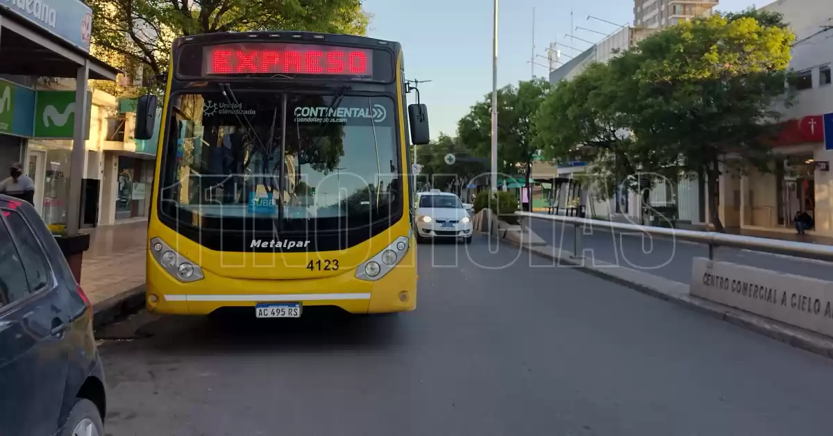
{"label": "low concrete block inscribed CENTRO COMERCIAL A CIELO", "polygon": [[694,258],[691,295],[833,336],[833,282]]}

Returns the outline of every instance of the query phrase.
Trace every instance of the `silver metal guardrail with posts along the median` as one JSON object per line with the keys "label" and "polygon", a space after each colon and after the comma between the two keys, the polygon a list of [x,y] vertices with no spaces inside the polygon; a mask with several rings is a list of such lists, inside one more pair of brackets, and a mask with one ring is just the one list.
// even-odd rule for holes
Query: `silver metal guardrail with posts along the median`
{"label": "silver metal guardrail with posts along the median", "polygon": [[812,258],[833,262],[833,246],[816,243],[798,243],[794,241],[783,241],[780,239],[757,238],[754,236],[743,236],[716,232],[698,232],[696,230],[682,230],[679,228],[661,228],[643,226],[631,223],[614,223],[598,219],[563,217],[560,215],[549,215],[546,213],[516,212],[517,216],[527,218],[538,218],[549,221],[557,221],[573,226],[573,253],[581,251],[581,233],[579,228],[583,226],[597,228],[611,228],[627,233],[646,233],[652,236],[663,236],[703,243],[709,247],[709,258],[714,259],[714,250],[717,247],[746,248],[748,250],[765,253],[786,254],[798,258]]}

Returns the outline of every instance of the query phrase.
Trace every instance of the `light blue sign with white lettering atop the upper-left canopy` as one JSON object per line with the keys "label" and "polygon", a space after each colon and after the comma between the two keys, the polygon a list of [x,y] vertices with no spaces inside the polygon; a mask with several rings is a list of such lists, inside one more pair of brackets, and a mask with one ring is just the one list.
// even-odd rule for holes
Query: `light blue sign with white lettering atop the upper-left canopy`
{"label": "light blue sign with white lettering atop the upper-left canopy", "polygon": [[92,9],[80,0],[0,0],[0,9],[90,53]]}

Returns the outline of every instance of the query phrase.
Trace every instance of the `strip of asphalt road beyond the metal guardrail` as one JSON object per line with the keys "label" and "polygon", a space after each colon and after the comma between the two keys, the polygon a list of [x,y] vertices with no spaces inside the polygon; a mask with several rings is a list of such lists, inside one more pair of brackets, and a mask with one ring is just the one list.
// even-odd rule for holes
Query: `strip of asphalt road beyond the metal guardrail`
{"label": "strip of asphalt road beyond the metal guardrail", "polygon": [[[531,227],[546,243],[573,251],[572,226],[533,218]],[[646,233],[614,233],[609,228],[594,228],[591,233],[581,236],[581,243],[588,263],[596,259],[681,283],[691,282],[692,258],[709,256],[708,247],[701,243],[651,237]],[[833,263],[814,259],[737,248],[716,248],[715,258],[782,273],[833,280]]]}

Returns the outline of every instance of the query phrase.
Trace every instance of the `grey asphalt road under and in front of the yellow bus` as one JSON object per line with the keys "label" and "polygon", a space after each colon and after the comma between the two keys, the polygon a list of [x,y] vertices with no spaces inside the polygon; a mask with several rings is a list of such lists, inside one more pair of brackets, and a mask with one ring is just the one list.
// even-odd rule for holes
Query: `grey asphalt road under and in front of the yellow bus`
{"label": "grey asphalt road under and in front of the yellow bus", "polygon": [[412,313],[140,313],[98,333],[107,433],[830,433],[833,362],[528,256],[421,246]]}

